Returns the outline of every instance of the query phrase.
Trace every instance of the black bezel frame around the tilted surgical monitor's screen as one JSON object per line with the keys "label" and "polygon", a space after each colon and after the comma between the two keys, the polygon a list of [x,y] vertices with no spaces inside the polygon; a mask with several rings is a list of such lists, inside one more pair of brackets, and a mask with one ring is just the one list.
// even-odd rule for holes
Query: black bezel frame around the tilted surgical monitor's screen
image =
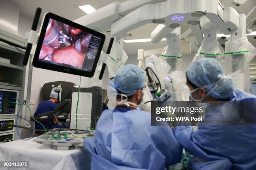
{"label": "black bezel frame around the tilted surgical monitor's screen", "polygon": [[[61,65],[54,65],[54,64],[47,63],[47,62],[40,62],[38,60],[38,57],[39,57],[39,54],[40,54],[40,51],[41,51],[41,47],[42,47],[43,42],[44,42],[44,35],[46,33],[46,28],[47,28],[47,25],[49,23],[50,18],[54,19],[54,20],[57,20],[61,23],[65,23],[67,25],[70,25],[74,28],[78,28],[82,31],[88,32],[92,35],[95,35],[95,36],[98,36],[98,37],[101,38],[101,43],[100,43],[97,55],[95,56],[95,62],[93,64],[92,71],[89,72],[89,71],[85,71],[85,70],[78,70],[78,69],[75,69],[75,68],[64,67],[64,66],[61,66]],[[74,75],[81,75],[81,76],[84,76],[84,77],[93,77],[93,75],[95,73],[95,70],[96,70],[97,63],[98,63],[99,58],[100,58],[100,52],[102,50],[104,42],[105,42],[105,35],[104,34],[102,34],[100,32],[97,32],[95,30],[92,30],[90,28],[84,27],[82,25],[79,25],[77,23],[74,23],[73,21],[67,20],[66,18],[62,18],[62,17],[60,17],[56,14],[46,13],[46,15],[44,17],[43,25],[41,27],[40,36],[38,38],[38,43],[37,43],[36,51],[35,51],[35,54],[34,54],[34,58],[33,58],[33,66],[38,67],[38,68],[43,68],[43,69],[46,69],[46,70],[53,70],[53,71],[58,71],[58,72],[74,74]]]}

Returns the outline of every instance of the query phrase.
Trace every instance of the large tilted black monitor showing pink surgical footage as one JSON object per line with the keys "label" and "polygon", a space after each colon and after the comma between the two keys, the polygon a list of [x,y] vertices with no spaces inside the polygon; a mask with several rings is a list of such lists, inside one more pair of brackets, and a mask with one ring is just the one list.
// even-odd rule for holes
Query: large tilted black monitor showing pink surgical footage
{"label": "large tilted black monitor showing pink surgical footage", "polygon": [[47,13],[33,59],[33,66],[92,77],[105,35]]}

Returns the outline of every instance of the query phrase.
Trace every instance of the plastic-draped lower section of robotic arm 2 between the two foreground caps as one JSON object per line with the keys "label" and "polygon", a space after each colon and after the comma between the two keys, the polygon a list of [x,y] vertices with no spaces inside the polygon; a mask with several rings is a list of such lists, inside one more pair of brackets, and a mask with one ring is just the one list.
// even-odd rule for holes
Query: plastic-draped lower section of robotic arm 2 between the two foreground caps
{"label": "plastic-draped lower section of robotic arm 2 between the two foreground caps", "polygon": [[[145,60],[148,77],[148,88],[157,101],[182,101],[189,99],[189,89],[186,85],[185,73],[174,70],[170,73],[170,65],[156,55],[150,55]],[[150,69],[149,69],[150,68]],[[152,74],[154,70],[154,73]],[[148,97],[147,97],[148,98]],[[148,101],[143,98],[143,101]],[[149,104],[147,104],[150,107]]]}

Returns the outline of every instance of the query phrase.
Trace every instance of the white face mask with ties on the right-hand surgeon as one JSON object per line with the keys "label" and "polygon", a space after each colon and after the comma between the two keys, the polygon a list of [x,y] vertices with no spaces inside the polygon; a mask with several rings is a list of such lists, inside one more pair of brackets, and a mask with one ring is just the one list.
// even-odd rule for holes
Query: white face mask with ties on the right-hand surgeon
{"label": "white face mask with ties on the right-hand surgeon", "polygon": [[202,97],[200,100],[195,99],[195,98],[193,97],[192,93],[193,93],[193,92],[196,92],[196,91],[199,90],[201,87],[198,87],[198,88],[196,88],[196,89],[193,89],[193,90],[189,91],[189,95],[190,95],[191,100],[193,100],[193,101],[202,101],[202,100],[204,100],[208,95],[210,95],[210,94],[213,92],[213,90],[218,86],[218,84],[219,84],[220,82],[222,82],[225,78],[226,78],[226,79],[232,78],[233,75],[237,75],[238,72],[241,72],[241,70],[237,70],[236,72],[233,72],[233,73],[230,74],[230,75],[221,75],[221,74],[220,74],[220,75],[218,75],[218,77],[220,78],[220,80],[218,80],[218,81],[216,81],[216,82],[214,82],[214,83],[212,83],[212,84],[210,84],[210,85],[202,86],[202,87],[204,87],[204,88],[210,87],[210,86],[213,86],[213,87],[212,87],[212,89],[211,89],[204,97]]}

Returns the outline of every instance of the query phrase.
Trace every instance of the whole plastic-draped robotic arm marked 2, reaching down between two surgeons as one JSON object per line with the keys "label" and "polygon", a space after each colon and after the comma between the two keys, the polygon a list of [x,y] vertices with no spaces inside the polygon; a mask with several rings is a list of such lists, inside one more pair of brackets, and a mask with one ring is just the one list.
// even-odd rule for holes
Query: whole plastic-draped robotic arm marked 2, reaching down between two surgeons
{"label": "whole plastic-draped robotic arm marked 2, reaching down between two surgeons", "polygon": [[[180,37],[184,38],[190,32],[189,29],[180,35],[180,28],[176,28],[166,37],[166,47],[148,51],[138,50],[139,66],[146,68],[147,84],[154,100],[188,100],[189,93],[185,92],[186,80],[182,79],[185,77],[184,72],[179,69],[182,61]],[[150,105],[148,104],[147,107]]]}

